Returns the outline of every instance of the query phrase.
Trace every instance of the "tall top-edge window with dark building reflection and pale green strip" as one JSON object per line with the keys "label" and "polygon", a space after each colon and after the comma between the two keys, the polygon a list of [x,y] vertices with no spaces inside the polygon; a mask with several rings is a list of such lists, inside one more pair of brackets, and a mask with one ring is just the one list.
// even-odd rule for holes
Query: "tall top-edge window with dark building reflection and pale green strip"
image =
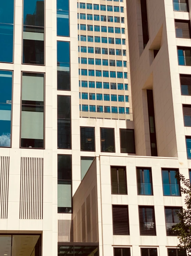
{"label": "tall top-edge window with dark building reflection and pale green strip", "polygon": [[44,65],[44,0],[23,0],[22,62]]}

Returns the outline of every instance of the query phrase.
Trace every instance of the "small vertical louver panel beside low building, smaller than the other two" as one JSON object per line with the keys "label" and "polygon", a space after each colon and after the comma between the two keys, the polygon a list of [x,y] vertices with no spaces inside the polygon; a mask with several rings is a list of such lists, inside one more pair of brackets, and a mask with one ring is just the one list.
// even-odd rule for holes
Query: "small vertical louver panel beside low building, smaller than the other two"
{"label": "small vertical louver panel beside low building, smaller than the other two", "polygon": [[58,220],[58,242],[73,242],[72,220]]}

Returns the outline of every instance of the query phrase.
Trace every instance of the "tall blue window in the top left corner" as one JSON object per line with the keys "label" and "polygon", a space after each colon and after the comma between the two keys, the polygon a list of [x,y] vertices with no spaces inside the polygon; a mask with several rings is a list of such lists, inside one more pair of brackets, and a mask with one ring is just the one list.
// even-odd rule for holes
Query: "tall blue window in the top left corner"
{"label": "tall blue window in the top left corner", "polygon": [[13,62],[14,0],[0,5],[0,62]]}

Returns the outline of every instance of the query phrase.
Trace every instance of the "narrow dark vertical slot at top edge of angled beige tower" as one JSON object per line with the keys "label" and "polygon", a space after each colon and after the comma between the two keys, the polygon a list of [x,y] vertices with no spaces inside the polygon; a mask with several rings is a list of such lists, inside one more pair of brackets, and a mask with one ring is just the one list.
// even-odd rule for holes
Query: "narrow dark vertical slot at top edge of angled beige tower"
{"label": "narrow dark vertical slot at top edge of angled beige tower", "polygon": [[143,32],[143,47],[145,48],[145,46],[149,41],[147,0],[141,0],[141,20],[142,20],[142,32]]}

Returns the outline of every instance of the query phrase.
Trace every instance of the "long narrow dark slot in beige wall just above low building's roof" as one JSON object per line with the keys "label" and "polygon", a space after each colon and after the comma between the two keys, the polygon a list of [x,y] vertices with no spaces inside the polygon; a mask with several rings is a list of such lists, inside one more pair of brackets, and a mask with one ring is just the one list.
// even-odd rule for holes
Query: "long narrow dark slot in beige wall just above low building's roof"
{"label": "long narrow dark slot in beige wall just above low building's roof", "polygon": [[157,137],[155,130],[155,120],[154,120],[154,102],[152,90],[147,90],[147,105],[148,105],[148,115],[149,115],[149,133],[150,133],[150,145],[151,145],[151,156],[157,157]]}

